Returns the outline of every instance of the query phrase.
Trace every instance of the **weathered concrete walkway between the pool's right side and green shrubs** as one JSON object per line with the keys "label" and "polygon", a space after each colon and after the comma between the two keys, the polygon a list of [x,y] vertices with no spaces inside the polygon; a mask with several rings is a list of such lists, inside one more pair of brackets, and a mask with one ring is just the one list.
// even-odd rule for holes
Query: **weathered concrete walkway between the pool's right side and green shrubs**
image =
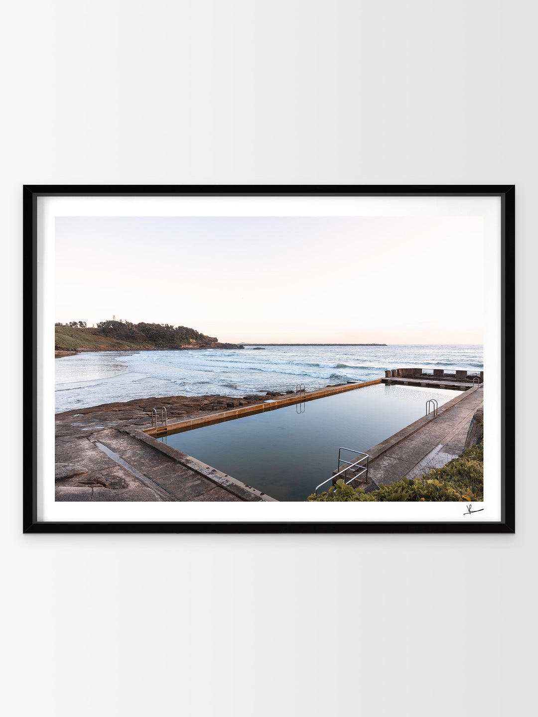
{"label": "weathered concrete walkway between the pool's right side and green shrubs", "polygon": [[399,434],[371,448],[368,480],[392,485],[415,477],[460,455],[474,412],[483,407],[483,388],[470,389],[440,407],[435,418],[419,419]]}

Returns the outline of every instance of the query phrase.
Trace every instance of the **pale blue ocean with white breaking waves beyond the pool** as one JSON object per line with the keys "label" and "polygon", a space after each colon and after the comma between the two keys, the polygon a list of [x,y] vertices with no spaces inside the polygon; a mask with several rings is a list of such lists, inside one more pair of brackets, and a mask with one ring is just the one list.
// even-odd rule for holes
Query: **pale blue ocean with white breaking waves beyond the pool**
{"label": "pale blue ocean with white breaking waves beyond the pool", "polygon": [[[264,346],[259,344],[259,346]],[[482,346],[253,346],[222,351],[98,351],[55,359],[56,412],[165,396],[246,396],[369,381],[386,369],[483,369]]]}

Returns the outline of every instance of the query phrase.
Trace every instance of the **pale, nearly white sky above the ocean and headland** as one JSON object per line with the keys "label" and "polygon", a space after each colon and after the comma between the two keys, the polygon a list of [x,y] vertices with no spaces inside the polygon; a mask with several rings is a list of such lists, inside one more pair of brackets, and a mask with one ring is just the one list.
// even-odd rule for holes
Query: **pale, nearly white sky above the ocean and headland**
{"label": "pale, nearly white sky above the ocean and headland", "polygon": [[57,217],[55,320],[237,343],[482,343],[477,217]]}

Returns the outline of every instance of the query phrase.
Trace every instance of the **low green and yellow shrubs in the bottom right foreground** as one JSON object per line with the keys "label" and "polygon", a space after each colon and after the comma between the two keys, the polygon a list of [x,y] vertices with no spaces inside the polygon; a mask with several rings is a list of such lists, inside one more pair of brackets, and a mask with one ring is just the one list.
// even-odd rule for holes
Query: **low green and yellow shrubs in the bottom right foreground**
{"label": "low green and yellow shrubs in the bottom right foreground", "polygon": [[336,485],[307,500],[483,500],[483,443],[473,445],[442,468],[433,468],[419,478],[402,478],[392,485],[365,493],[364,488],[352,488],[339,478]]}

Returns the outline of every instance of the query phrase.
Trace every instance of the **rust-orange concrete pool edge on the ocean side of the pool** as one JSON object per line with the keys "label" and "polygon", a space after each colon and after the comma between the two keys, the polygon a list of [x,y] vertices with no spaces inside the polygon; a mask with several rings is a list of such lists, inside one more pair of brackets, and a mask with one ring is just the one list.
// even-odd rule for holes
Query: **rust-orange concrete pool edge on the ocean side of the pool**
{"label": "rust-orange concrete pool edge on the ocean side of the pool", "polygon": [[[321,399],[326,396],[333,396],[334,394],[341,394],[344,391],[354,391],[356,389],[362,389],[365,386],[374,386],[382,384],[383,379],[373,379],[372,381],[361,381],[358,384],[349,384],[344,386],[331,386],[330,388],[314,389],[303,394],[302,398],[298,398],[298,394],[293,394],[285,398],[278,398],[274,400],[268,400],[262,404],[252,404],[250,406],[242,406],[237,409],[229,409],[227,411],[211,412],[207,416],[200,416],[198,418],[184,419],[175,423],[169,423],[166,426],[159,426],[153,428],[143,429],[143,433],[147,436],[164,437],[173,433],[179,433],[184,428],[190,428],[193,426],[202,426],[207,423],[217,423],[225,421],[231,418],[238,418],[242,416],[248,416],[255,413],[263,413],[265,411],[274,411],[275,409],[292,406],[306,401],[313,401],[314,399]],[[161,445],[161,444],[159,444]],[[186,455],[186,454],[185,454]]]}

